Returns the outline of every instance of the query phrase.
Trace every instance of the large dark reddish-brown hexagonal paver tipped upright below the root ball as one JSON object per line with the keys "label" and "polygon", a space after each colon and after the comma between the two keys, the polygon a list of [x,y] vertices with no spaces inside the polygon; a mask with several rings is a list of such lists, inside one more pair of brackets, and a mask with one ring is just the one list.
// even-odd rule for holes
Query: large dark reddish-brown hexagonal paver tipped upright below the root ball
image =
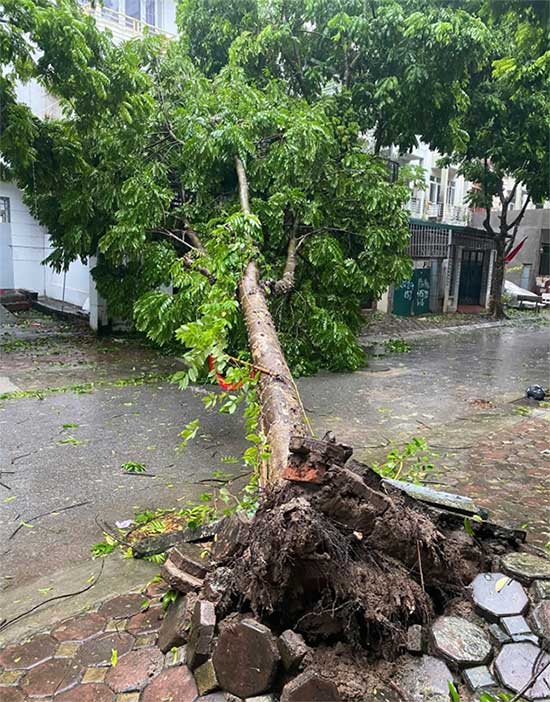
{"label": "large dark reddish-brown hexagonal paver tipped upright below the root ball", "polygon": [[220,687],[237,697],[269,690],[280,659],[276,638],[253,619],[225,627],[212,656]]}

